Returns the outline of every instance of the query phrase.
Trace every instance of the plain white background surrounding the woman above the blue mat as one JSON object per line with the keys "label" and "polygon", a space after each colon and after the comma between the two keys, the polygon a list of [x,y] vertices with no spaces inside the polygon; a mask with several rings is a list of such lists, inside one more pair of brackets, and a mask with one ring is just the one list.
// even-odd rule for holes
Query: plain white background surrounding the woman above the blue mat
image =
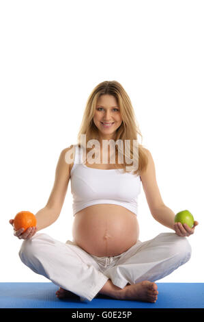
{"label": "plain white background surrounding the woman above the blue mat", "polygon": [[[159,282],[203,277],[203,1],[1,1],[0,282],[50,282],[18,257],[10,219],[42,209],[62,149],[76,143],[87,97],[104,80],[130,96],[166,206],[199,221],[192,258]],[[140,240],[173,232],[139,197]],[[72,238],[70,184],[59,219]]]}

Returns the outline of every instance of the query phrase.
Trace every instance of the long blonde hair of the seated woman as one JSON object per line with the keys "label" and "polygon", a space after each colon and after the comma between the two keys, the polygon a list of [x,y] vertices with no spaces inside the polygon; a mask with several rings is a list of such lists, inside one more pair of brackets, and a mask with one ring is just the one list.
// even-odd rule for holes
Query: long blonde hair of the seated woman
{"label": "long blonde hair of the seated woman", "polygon": [[[138,135],[141,136],[143,140],[143,136],[139,130],[139,125],[137,124],[136,117],[134,114],[134,108],[132,107],[132,103],[130,101],[130,98],[128,97],[127,92],[124,90],[123,86],[119,84],[119,82],[116,81],[105,81],[100,84],[98,84],[95,88],[93,88],[91,94],[89,95],[87,99],[87,104],[85,106],[85,112],[83,114],[83,120],[81,122],[81,127],[78,132],[77,136],[77,145],[78,147],[81,147],[81,134],[85,134],[86,143],[91,139],[99,140],[99,133],[98,128],[93,123],[93,115],[96,110],[96,104],[98,102],[98,99],[101,95],[113,95],[115,99],[117,100],[117,105],[120,108],[121,111],[121,117],[122,117],[122,123],[119,126],[119,128],[115,131],[115,135],[113,137],[113,140],[115,142],[117,140],[123,141],[123,146],[125,145],[125,140],[129,140],[130,142],[130,158],[133,157],[133,141],[138,141]],[[87,145],[86,145],[87,146]],[[117,151],[117,144],[115,145]],[[87,148],[87,151],[91,151],[93,148]],[[138,143],[138,152],[139,155],[138,158],[138,166],[136,171],[133,172],[133,174],[139,175],[141,174],[141,171],[145,171],[147,169],[147,154],[145,153],[144,147],[142,144]],[[120,153],[125,156],[124,151],[120,151]],[[123,170],[126,172],[126,166],[130,166],[130,164],[126,164],[126,158],[124,158],[125,161],[123,163]],[[121,169],[121,166],[118,166],[115,164],[116,169]]]}

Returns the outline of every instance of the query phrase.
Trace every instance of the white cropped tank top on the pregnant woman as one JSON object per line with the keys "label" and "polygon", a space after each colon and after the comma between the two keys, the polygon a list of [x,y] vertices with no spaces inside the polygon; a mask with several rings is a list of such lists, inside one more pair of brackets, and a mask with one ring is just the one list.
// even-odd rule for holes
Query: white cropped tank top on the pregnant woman
{"label": "white cropped tank top on the pregnant woman", "polygon": [[83,164],[83,147],[74,145],[70,172],[73,215],[91,205],[112,203],[137,215],[141,177],[123,169],[93,169]]}

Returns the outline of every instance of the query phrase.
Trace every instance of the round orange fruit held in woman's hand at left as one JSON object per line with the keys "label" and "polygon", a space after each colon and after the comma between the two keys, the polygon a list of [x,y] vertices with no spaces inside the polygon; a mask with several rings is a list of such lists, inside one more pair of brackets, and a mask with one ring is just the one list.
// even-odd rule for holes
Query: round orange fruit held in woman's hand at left
{"label": "round orange fruit held in woman's hand at left", "polygon": [[20,211],[14,218],[14,230],[20,230],[20,228],[24,228],[25,232],[27,228],[35,227],[36,225],[37,219],[35,215],[29,211]]}

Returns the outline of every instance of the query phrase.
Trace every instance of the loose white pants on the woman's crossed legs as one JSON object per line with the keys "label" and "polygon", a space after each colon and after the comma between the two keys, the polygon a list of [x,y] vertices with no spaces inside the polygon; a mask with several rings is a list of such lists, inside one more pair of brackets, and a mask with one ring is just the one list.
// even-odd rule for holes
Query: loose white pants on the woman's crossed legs
{"label": "loose white pants on the woman's crossed legs", "polygon": [[23,241],[19,256],[35,273],[75,293],[81,301],[91,301],[108,279],[119,288],[160,280],[190,259],[191,247],[186,237],[170,232],[143,243],[139,240],[119,256],[97,257],[71,240],[61,243],[37,233]]}

